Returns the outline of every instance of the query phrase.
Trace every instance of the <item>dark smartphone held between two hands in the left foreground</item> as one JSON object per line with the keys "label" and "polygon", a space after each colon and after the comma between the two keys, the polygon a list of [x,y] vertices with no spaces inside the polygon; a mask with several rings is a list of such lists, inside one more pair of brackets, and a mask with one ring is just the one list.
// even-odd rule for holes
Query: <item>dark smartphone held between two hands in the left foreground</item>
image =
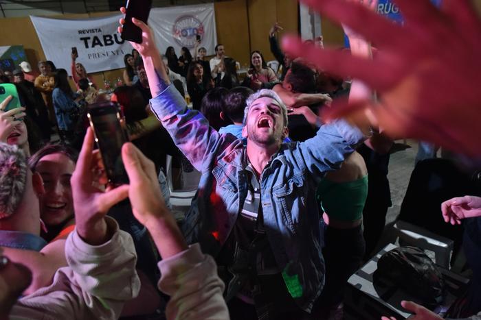
{"label": "dark smartphone held between two hands in the left foreground", "polygon": [[96,136],[96,143],[109,184],[128,183],[122,162],[122,145],[128,141],[120,106],[115,102],[93,103],[87,107],[87,117]]}

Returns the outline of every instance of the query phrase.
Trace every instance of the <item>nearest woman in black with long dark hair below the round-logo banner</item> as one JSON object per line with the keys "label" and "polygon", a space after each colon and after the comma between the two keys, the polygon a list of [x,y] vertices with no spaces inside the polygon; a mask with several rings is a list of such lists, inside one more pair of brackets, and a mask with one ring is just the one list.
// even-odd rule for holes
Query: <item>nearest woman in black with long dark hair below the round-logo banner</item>
{"label": "nearest woman in black with long dark hair below the round-logo banner", "polygon": [[214,88],[214,81],[204,73],[200,62],[192,62],[187,72],[187,92],[192,101],[192,108],[201,110],[201,101],[205,93]]}

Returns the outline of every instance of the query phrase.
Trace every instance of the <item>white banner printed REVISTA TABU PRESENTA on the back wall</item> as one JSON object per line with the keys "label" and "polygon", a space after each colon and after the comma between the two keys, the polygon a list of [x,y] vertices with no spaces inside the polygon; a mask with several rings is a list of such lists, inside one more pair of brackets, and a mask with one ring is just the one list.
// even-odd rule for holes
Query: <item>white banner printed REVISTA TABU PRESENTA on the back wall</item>
{"label": "white banner printed REVISTA TABU PRESENTA on the back wall", "polygon": [[87,20],[60,20],[30,16],[47,60],[70,74],[71,48],[88,73],[124,68],[132,46],[117,33],[122,14]]}

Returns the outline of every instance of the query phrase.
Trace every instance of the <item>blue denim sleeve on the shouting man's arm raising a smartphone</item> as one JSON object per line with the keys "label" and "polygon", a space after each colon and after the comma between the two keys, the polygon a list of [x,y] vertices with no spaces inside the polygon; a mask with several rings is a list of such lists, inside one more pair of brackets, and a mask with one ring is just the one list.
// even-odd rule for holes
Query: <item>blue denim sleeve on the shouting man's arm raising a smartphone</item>
{"label": "blue denim sleeve on the shouting man's arm raising a smartphone", "polygon": [[209,126],[208,120],[197,110],[190,110],[177,89],[170,85],[150,100],[150,107],[172,136],[175,145],[198,171],[212,163],[217,151],[229,152],[234,141],[230,135],[221,136]]}

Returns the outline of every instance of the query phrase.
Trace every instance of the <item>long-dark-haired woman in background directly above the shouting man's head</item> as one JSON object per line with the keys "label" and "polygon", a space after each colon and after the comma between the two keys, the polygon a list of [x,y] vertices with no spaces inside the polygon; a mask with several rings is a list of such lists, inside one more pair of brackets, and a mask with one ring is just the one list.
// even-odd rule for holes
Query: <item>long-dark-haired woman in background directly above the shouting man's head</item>
{"label": "long-dark-haired woman in background directly above the shouting man's head", "polygon": [[245,77],[243,86],[248,86],[252,90],[259,90],[264,88],[264,84],[269,82],[277,82],[278,78],[276,73],[267,66],[264,60],[264,56],[260,51],[251,52],[251,66],[247,71],[247,77]]}

